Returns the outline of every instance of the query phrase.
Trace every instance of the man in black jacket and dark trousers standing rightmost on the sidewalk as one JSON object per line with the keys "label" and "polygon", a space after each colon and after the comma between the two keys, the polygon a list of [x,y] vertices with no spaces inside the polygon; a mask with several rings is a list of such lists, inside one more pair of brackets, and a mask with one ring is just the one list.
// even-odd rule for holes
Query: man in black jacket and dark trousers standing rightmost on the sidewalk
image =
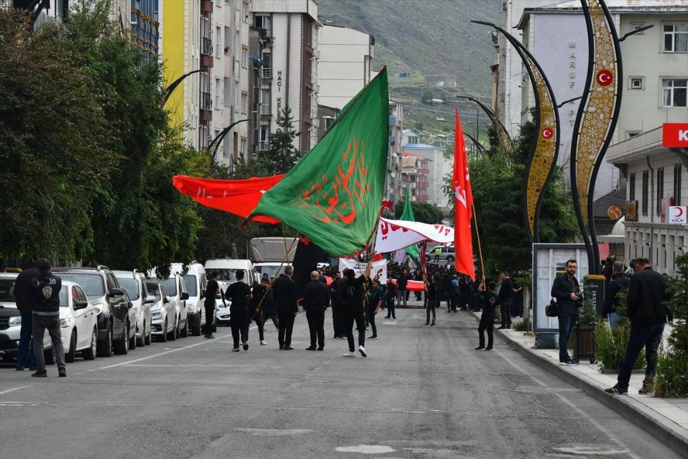
{"label": "man in black jacket and dark trousers standing rightmost on the sidewalk", "polygon": [[654,369],[657,365],[657,348],[662,341],[667,310],[662,302],[669,299],[666,280],[649,265],[647,258],[636,259],[636,273],[628,287],[628,318],[631,320],[631,334],[626,353],[619,369],[616,385],[605,389],[608,394],[625,394],[631,378],[633,365],[645,347],[645,380],[639,394],[653,389]]}

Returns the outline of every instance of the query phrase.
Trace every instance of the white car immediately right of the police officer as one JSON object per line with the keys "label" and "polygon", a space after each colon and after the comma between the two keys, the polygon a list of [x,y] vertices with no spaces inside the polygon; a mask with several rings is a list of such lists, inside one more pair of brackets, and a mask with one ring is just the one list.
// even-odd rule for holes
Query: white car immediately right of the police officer
{"label": "white car immediately right of the police officer", "polygon": [[63,282],[60,290],[60,327],[65,346],[65,362],[74,362],[77,352],[84,360],[96,358],[98,312],[81,287]]}

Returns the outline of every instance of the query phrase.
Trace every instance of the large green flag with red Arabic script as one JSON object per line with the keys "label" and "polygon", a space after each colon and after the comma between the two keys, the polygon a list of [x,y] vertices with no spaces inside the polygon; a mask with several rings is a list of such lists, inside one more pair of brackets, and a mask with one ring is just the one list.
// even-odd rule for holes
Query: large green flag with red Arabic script
{"label": "large green flag with red Arabic script", "polygon": [[376,228],[385,188],[387,91],[383,69],[248,217],[274,217],[330,256],[361,252]]}

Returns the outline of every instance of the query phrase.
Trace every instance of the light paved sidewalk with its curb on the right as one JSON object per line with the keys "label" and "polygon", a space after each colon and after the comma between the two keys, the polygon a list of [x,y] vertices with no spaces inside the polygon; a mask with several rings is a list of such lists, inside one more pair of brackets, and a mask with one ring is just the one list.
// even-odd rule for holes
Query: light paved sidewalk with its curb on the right
{"label": "light paved sidewalk with its curb on the right", "polygon": [[[472,313],[480,320],[480,313]],[[515,330],[496,330],[495,334],[510,343],[514,350],[559,376],[621,416],[647,430],[678,454],[688,458],[688,399],[658,398],[639,395],[644,374],[632,374],[628,394],[605,394],[604,389],[616,384],[616,374],[602,374],[597,364],[581,361],[580,365],[559,365],[559,350],[536,349],[535,337]]]}

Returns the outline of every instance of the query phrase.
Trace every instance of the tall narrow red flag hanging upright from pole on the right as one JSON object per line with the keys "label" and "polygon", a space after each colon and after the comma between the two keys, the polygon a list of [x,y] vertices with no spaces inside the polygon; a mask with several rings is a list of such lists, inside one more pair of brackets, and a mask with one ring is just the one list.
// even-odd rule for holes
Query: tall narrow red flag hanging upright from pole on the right
{"label": "tall narrow red flag hanging upright from pole on the right", "polygon": [[475,281],[473,265],[473,237],[471,216],[473,215],[473,191],[466,159],[464,132],[461,129],[459,109],[456,111],[456,133],[454,138],[454,172],[451,188],[454,190],[454,247],[456,250],[455,270],[468,275]]}

